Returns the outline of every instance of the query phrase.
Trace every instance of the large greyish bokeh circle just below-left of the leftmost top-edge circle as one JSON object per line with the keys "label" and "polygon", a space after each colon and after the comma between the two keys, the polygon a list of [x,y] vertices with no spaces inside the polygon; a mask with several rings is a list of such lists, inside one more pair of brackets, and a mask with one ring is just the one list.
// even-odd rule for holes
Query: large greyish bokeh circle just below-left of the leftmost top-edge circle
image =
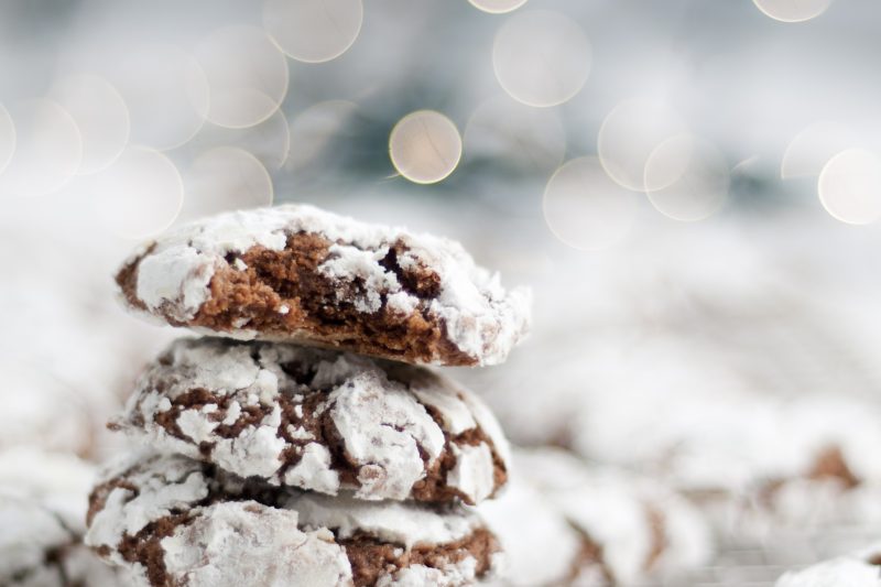
{"label": "large greyish bokeh circle just below-left of the leftmost top-edge circle", "polygon": [[215,124],[258,124],[279,109],[287,93],[287,61],[257,26],[213,32],[199,43],[196,58],[208,79],[208,119]]}

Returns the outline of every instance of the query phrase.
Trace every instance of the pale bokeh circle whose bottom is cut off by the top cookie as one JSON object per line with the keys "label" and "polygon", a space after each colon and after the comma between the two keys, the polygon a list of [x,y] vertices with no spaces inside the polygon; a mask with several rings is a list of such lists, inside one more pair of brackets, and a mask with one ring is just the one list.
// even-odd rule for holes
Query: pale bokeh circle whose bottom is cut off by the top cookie
{"label": "pale bokeh circle whose bottom is cut off by the top cookie", "polygon": [[272,180],[251,153],[218,146],[202,153],[184,175],[181,220],[272,204]]}

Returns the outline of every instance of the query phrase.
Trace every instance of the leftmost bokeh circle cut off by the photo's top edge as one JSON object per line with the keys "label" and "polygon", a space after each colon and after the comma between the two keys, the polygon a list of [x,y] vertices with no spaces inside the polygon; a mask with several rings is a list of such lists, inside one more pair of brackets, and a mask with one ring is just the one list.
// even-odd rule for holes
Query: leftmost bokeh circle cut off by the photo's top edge
{"label": "leftmost bokeh circle cut off by the photo's top edge", "polygon": [[267,0],[263,26],[286,55],[323,63],[355,43],[363,13],[361,0]]}

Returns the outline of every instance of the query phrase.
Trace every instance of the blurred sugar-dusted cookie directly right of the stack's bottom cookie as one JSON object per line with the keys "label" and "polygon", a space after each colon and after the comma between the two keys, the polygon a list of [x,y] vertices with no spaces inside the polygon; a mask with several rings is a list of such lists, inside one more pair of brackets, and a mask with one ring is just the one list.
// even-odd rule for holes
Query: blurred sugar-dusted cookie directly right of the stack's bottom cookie
{"label": "blurred sugar-dusted cookie directly right of the stack's bottom cookie", "polygon": [[481,506],[513,585],[634,585],[682,576],[714,552],[685,499],[556,448],[514,452],[511,489]]}

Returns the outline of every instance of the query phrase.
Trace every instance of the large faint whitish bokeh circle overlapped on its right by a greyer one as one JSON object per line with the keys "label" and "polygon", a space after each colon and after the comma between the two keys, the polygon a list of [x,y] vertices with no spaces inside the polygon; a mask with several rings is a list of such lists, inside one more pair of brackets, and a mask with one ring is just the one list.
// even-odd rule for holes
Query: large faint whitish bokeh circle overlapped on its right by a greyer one
{"label": "large faint whitish bokeh circle overlapped on its right by a greyer one", "polygon": [[133,143],[174,149],[198,132],[208,113],[208,81],[191,54],[146,45],[128,52],[119,65],[111,81],[128,107]]}

